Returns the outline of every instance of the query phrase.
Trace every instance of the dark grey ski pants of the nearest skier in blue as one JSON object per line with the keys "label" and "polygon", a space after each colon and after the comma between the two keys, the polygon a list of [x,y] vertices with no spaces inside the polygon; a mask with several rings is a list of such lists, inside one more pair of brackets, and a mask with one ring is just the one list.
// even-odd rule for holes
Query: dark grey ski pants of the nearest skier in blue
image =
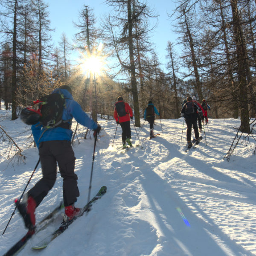
{"label": "dark grey ski pants of the nearest skier in blue", "polygon": [[75,174],[75,160],[70,141],[51,140],[41,142],[39,156],[43,177],[29,190],[28,195],[35,199],[37,206],[52,189],[57,177],[57,163],[63,178],[64,206],[69,206],[77,201],[79,189],[77,175]]}

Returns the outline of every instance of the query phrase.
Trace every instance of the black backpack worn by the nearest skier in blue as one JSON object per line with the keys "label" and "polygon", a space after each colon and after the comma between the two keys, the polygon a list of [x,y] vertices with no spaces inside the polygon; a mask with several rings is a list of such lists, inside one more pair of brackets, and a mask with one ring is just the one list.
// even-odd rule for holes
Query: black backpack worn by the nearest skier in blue
{"label": "black backpack worn by the nearest skier in blue", "polygon": [[70,129],[70,120],[62,120],[66,101],[62,93],[52,93],[34,102],[39,104],[41,117],[39,122],[44,128],[62,127]]}

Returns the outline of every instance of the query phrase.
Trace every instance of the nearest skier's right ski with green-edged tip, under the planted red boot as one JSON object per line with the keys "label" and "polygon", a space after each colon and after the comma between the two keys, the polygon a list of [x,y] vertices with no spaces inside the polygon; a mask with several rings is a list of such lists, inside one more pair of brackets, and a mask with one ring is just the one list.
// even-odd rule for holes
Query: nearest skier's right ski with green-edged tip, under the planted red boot
{"label": "nearest skier's right ski with green-edged tip, under the planted red boot", "polygon": [[77,215],[70,221],[67,221],[67,222],[63,221],[61,226],[57,230],[55,230],[52,234],[50,234],[45,239],[40,241],[37,245],[33,246],[32,249],[43,249],[43,248],[47,247],[49,245],[49,243],[52,242],[61,233],[63,233],[69,227],[70,224],[72,224],[77,218],[79,218],[81,215],[83,215],[84,212],[89,211],[90,205],[93,204],[98,199],[102,198],[102,196],[106,193],[106,191],[107,191],[107,187],[102,186],[101,189],[99,190],[99,192],[95,195],[95,197],[92,200],[90,200],[90,202],[88,202],[81,209],[81,214]]}

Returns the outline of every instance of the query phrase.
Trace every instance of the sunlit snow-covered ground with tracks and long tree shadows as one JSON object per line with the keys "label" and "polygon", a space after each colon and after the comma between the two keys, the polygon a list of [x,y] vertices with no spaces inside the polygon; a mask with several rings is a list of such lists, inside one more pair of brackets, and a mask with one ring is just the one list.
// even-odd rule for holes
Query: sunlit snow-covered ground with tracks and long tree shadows
{"label": "sunlit snow-covered ground with tracks and long tree shadows", "polygon": [[[24,150],[26,163],[9,163],[8,141],[2,137],[1,234],[15,209],[14,199],[20,197],[38,161],[37,148],[28,148],[29,126],[20,119],[10,121],[10,115],[10,111],[2,108],[0,125]],[[161,123],[156,120],[155,132],[161,135],[152,140],[147,139],[149,125],[145,123],[141,131],[137,128],[140,141],[131,122],[132,140],[138,146],[123,154],[120,126],[116,131],[115,121],[99,120],[107,134],[96,144],[91,195],[103,185],[107,186],[107,193],[47,248],[31,249],[60,225],[61,217],[37,233],[18,255],[256,255],[255,141],[241,140],[230,161],[224,160],[237,132],[234,127],[239,127],[239,123],[232,118],[209,119],[206,140],[204,137],[197,148],[186,153],[185,128],[181,142],[183,118],[161,119]],[[79,137],[79,142],[76,138],[74,151],[80,189],[76,206],[82,207],[87,201],[94,141]],[[28,189],[40,177],[38,168]],[[55,208],[61,198],[62,179],[58,173],[54,188],[36,210],[37,221]],[[0,237],[0,254],[25,233],[16,212]]]}

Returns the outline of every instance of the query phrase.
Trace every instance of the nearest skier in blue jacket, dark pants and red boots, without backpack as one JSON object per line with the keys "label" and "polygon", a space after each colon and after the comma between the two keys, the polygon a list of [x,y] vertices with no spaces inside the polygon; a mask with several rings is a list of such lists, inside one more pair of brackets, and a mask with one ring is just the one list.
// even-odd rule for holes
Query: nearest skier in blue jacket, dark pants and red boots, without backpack
{"label": "nearest skier in blue jacket, dark pants and red boots, without backpack", "polygon": [[[62,120],[69,120],[69,127],[71,127],[71,120],[74,117],[81,125],[99,133],[100,126],[82,111],[81,106],[73,99],[69,86],[63,85],[52,93],[64,95],[66,107],[64,107]],[[79,197],[79,189],[77,186],[78,177],[74,172],[76,157],[71,146],[72,130],[63,127],[47,129],[43,128],[40,122],[32,125],[31,129],[39,149],[43,177],[24,195],[23,201],[18,205],[25,225],[29,229],[35,227],[35,208],[38,207],[55,183],[57,163],[63,178],[65,217],[71,220],[80,211],[74,206]]]}

